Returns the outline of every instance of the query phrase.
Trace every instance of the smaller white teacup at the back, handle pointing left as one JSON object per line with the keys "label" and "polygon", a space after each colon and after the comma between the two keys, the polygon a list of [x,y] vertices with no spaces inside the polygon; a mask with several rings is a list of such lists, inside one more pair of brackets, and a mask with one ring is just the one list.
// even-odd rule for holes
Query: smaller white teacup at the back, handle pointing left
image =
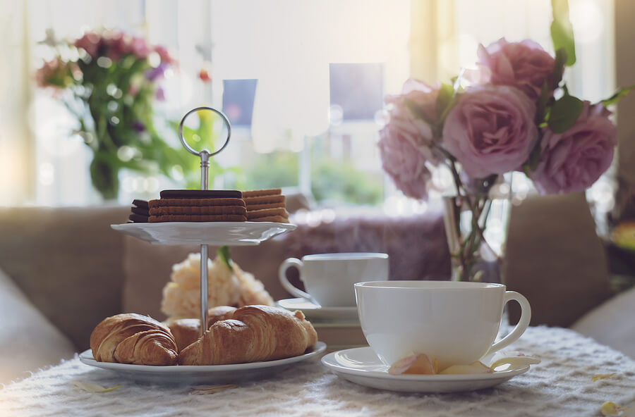
{"label": "smaller white teacup at the back, handle pointing left", "polygon": [[[307,292],[286,278],[286,270],[296,266]],[[315,254],[302,259],[289,258],[280,265],[282,286],[296,297],[304,297],[320,306],[355,306],[353,284],[388,279],[388,255],[371,252]]]}

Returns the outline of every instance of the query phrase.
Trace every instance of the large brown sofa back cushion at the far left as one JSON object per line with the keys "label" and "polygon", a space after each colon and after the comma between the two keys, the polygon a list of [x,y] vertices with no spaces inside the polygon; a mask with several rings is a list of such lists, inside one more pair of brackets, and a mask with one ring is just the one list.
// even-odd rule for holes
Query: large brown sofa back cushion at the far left
{"label": "large brown sofa back cushion at the far left", "polygon": [[123,235],[110,228],[129,207],[0,208],[0,268],[78,350],[121,311]]}

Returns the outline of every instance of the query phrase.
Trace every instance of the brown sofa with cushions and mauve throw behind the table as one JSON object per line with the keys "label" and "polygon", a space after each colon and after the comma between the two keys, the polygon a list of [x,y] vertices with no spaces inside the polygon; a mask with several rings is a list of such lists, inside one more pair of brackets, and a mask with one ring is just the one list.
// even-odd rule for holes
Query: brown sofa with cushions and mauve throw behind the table
{"label": "brown sofa with cushions and mauve throw behind the table", "polygon": [[[171,266],[198,247],[152,245],[112,230],[109,225],[124,223],[129,210],[110,205],[0,208],[0,316],[6,324],[0,327],[0,383],[87,349],[90,332],[107,316],[136,312],[165,318],[160,301]],[[313,216],[310,223],[300,218],[295,217],[294,232],[258,246],[231,248],[232,259],[276,300],[291,297],[277,278],[280,263],[311,253],[381,251],[390,256],[391,279],[449,277],[441,213],[322,221]],[[581,194],[514,206],[506,260],[507,285],[531,302],[532,325],[575,328],[582,323],[579,329],[586,334],[635,356],[629,348],[629,342],[635,344],[632,325],[626,335],[605,331],[603,316],[622,329],[624,320],[617,316],[620,309],[633,314],[635,293],[611,298],[603,245]],[[301,287],[297,273],[290,273]],[[615,299],[617,307],[611,304]]]}

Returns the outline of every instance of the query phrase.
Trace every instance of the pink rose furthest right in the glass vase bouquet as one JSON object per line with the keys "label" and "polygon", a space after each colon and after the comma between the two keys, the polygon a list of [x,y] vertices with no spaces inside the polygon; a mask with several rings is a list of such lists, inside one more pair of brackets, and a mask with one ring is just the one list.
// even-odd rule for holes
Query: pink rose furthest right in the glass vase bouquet
{"label": "pink rose furthest right in the glass vase bouquet", "polygon": [[540,163],[531,179],[545,193],[579,192],[610,166],[617,130],[602,104],[584,107],[576,123],[564,133],[545,129],[540,143]]}

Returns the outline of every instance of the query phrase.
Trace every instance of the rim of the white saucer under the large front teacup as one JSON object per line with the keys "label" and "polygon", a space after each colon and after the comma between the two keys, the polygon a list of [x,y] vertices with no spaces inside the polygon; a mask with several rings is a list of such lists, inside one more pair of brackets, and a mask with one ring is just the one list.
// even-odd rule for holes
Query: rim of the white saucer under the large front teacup
{"label": "rim of the white saucer under the large front teacup", "polygon": [[[322,357],[322,363],[327,368],[337,371],[339,373],[346,373],[349,375],[358,375],[367,378],[381,378],[386,380],[410,380],[410,381],[425,381],[425,382],[441,382],[441,381],[476,381],[476,380],[498,380],[509,379],[521,373],[525,373],[529,370],[529,366],[523,368],[513,369],[511,371],[497,371],[494,373],[476,373],[476,374],[461,374],[461,375],[391,375],[387,371],[370,371],[363,368],[351,368],[337,361],[337,354],[355,354],[355,351],[370,350],[370,347],[355,347],[353,349],[345,349],[341,351],[334,351]],[[367,366],[381,366],[383,365],[377,358],[376,362],[368,363]],[[362,365],[363,366],[363,365]]]}

